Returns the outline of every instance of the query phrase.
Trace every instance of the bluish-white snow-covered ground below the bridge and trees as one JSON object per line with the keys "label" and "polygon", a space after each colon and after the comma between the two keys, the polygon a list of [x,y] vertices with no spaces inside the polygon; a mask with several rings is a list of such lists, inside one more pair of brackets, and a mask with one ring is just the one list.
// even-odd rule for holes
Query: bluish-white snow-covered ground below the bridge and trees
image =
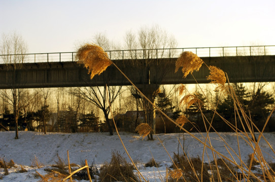
{"label": "bluish-white snow-covered ground below the bridge and trees", "polygon": [[[193,133],[197,138],[204,141],[203,136],[206,133]],[[237,137],[235,133],[219,133],[232,150],[238,152]],[[138,134],[121,132],[121,138],[125,144],[132,159],[139,164],[142,174],[149,181],[161,181],[166,176],[166,167],[171,166],[171,159],[164,150],[165,146],[168,153],[173,156],[174,153],[183,153],[181,145],[184,143],[184,149],[190,157],[202,157],[203,145],[189,134],[171,133],[154,135],[154,141],[143,140]],[[258,135],[256,134],[258,137]],[[275,133],[264,133],[265,139],[275,148]],[[4,169],[0,169],[0,181],[39,181],[35,178],[35,171],[46,174],[44,168],[30,167],[35,161],[35,157],[44,166],[56,164],[57,154],[67,162],[67,150],[70,153],[70,162],[81,164],[87,159],[88,164],[92,162],[96,165],[109,162],[112,152],[119,154],[129,160],[117,134],[110,136],[108,133],[41,133],[32,131],[19,132],[19,139],[15,140],[14,131],[0,132],[0,158],[9,162],[11,159],[17,164],[17,168],[10,168],[9,175],[4,175]],[[159,141],[158,140],[161,141]],[[225,142],[216,133],[210,133],[212,146],[221,154],[228,156],[225,148]],[[179,145],[179,141],[181,145]],[[161,144],[162,143],[162,144]],[[261,139],[259,146],[267,162],[275,161],[275,154],[268,144]],[[227,147],[228,148],[228,147]],[[240,156],[243,161],[248,160],[248,155],[253,149],[239,138]],[[231,152],[231,151],[230,151]],[[213,160],[210,150],[208,150],[209,159]],[[233,154],[233,153],[231,153]],[[154,157],[155,161],[160,163],[161,167],[144,167],[144,163],[149,162]],[[204,156],[207,158],[206,153]],[[239,163],[239,159],[234,156]],[[208,160],[208,159],[207,159]],[[130,161],[130,160],[129,160]],[[206,162],[206,161],[205,161]],[[27,172],[20,173],[20,165]],[[159,171],[160,172],[159,172]],[[2,179],[1,179],[2,176]],[[84,181],[84,180],[83,180]]]}

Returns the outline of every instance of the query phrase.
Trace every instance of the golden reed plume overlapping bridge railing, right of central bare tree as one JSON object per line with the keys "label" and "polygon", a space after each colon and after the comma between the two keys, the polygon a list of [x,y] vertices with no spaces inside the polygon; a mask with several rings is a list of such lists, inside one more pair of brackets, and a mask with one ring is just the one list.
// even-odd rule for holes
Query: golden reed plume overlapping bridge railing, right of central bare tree
{"label": "golden reed plume overlapping bridge railing, right of central bare tree", "polygon": [[200,59],[196,54],[186,51],[183,52],[176,61],[175,72],[177,72],[179,68],[182,67],[182,72],[184,73],[183,77],[186,78],[189,73],[198,71],[202,63],[202,59]]}

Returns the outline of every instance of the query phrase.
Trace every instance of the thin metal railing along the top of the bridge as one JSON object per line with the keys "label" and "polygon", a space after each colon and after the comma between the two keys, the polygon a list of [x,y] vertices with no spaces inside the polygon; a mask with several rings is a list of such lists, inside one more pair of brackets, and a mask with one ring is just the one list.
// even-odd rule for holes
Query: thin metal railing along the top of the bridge
{"label": "thin metal railing along the top of the bridge", "polygon": [[[267,56],[275,55],[275,45],[255,45],[238,47],[209,47],[209,48],[171,48],[147,50],[116,50],[106,51],[111,60],[127,59],[156,59],[178,58],[184,51],[191,51],[199,57],[225,57],[225,56]],[[35,54],[10,54],[0,55],[0,64],[18,62],[64,62],[76,61],[76,52],[62,53],[35,53]],[[15,60],[15,61],[14,61]]]}

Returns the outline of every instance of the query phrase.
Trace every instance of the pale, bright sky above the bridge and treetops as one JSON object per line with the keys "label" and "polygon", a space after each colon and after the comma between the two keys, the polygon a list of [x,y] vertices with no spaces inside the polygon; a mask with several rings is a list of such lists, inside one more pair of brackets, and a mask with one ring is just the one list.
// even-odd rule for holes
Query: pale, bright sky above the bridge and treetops
{"label": "pale, bright sky above the bridge and treetops", "polygon": [[115,42],[159,25],[178,48],[275,45],[275,1],[0,0],[0,33],[16,31],[28,53],[72,52],[102,32]]}

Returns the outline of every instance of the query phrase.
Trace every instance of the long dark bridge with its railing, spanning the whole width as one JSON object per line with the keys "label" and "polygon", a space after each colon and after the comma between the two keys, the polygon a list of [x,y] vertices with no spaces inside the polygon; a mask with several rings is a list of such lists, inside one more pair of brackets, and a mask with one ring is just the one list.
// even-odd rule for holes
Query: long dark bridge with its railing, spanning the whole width
{"label": "long dark bridge with its railing, spanning the whole width", "polygon": [[[181,71],[175,73],[175,62],[183,51],[191,51],[207,65],[221,68],[230,82],[275,81],[275,45],[106,52],[138,86],[195,83],[191,75],[183,78]],[[0,55],[0,89],[102,86],[106,83],[130,85],[113,65],[90,80],[86,68],[76,62],[75,55],[76,52]],[[14,60],[20,63],[12,64]],[[193,75],[199,83],[209,82],[206,79],[209,70],[205,65]]]}

